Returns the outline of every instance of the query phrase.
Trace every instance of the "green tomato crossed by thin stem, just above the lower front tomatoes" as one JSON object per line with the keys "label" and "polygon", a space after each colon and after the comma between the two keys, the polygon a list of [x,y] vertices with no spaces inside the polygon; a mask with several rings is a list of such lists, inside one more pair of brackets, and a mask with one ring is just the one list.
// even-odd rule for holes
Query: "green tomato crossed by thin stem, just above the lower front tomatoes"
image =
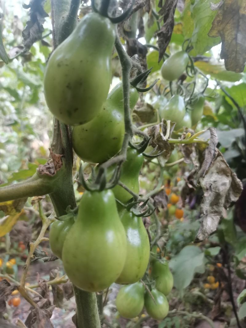
{"label": "green tomato crossed by thin stem, just above the lower front tomatoes", "polygon": [[[129,147],[127,149],[127,159],[121,166],[120,181],[135,194],[139,193],[138,176],[143,166],[143,160],[142,154],[138,154],[136,149]],[[115,198],[122,203],[126,203],[132,198],[132,195],[119,185],[116,185],[112,190]]]}

